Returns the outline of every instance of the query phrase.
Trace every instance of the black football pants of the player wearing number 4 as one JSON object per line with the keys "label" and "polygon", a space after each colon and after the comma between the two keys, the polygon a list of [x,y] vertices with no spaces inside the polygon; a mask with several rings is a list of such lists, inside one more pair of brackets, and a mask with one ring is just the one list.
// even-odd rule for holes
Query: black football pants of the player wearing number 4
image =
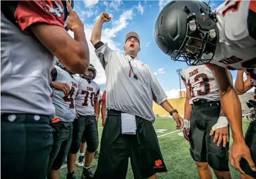
{"label": "black football pants of the player wearing number 4", "polygon": [[72,142],[72,123],[59,122],[54,124],[59,129],[59,135],[54,133],[54,144],[49,157],[49,168],[59,170],[65,162]]}

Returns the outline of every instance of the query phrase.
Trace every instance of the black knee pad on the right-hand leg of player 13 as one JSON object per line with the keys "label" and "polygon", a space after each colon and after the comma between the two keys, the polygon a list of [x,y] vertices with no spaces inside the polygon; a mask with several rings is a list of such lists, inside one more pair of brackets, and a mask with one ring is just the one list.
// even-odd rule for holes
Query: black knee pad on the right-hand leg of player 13
{"label": "black knee pad on the right-hand leg of player 13", "polygon": [[226,157],[220,157],[214,153],[207,153],[207,162],[214,170],[217,171],[229,171],[228,159]]}

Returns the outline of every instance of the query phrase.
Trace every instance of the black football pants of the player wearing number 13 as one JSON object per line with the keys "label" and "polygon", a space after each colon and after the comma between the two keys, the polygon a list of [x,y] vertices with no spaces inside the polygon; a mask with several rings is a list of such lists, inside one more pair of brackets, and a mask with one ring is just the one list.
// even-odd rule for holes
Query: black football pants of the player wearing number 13
{"label": "black football pants of the player wearing number 13", "polygon": [[215,132],[210,135],[219,112],[219,102],[193,105],[190,113],[190,153],[195,162],[208,162],[215,170],[229,171],[229,143],[226,147],[223,147],[223,143],[218,147],[217,142],[213,143]]}

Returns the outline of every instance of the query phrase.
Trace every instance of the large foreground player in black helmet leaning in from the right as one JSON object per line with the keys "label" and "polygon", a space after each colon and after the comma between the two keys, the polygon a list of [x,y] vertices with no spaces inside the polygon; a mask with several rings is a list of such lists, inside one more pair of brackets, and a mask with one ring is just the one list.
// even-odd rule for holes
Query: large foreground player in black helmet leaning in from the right
{"label": "large foreground player in black helmet leaning in from the right", "polygon": [[[212,71],[232,130],[230,164],[241,178],[256,178],[256,121],[248,127],[250,137],[244,138],[241,103],[228,69],[255,74],[255,22],[256,1],[226,1],[215,12],[201,1],[172,1],[160,12],[155,27],[158,47],[171,59],[206,64]],[[240,165],[240,160],[248,163]]]}

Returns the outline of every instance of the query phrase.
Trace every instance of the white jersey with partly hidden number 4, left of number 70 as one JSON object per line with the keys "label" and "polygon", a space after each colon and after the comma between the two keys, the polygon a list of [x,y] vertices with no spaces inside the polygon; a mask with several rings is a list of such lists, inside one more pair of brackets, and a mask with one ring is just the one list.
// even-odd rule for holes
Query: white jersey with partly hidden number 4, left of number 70
{"label": "white jersey with partly hidden number 4, left of number 70", "polygon": [[60,121],[73,122],[76,117],[75,98],[78,92],[78,82],[70,73],[55,65],[52,70],[52,77],[58,83],[65,83],[70,86],[70,91],[64,95],[62,90],[53,89],[52,100],[55,106],[55,113]]}

